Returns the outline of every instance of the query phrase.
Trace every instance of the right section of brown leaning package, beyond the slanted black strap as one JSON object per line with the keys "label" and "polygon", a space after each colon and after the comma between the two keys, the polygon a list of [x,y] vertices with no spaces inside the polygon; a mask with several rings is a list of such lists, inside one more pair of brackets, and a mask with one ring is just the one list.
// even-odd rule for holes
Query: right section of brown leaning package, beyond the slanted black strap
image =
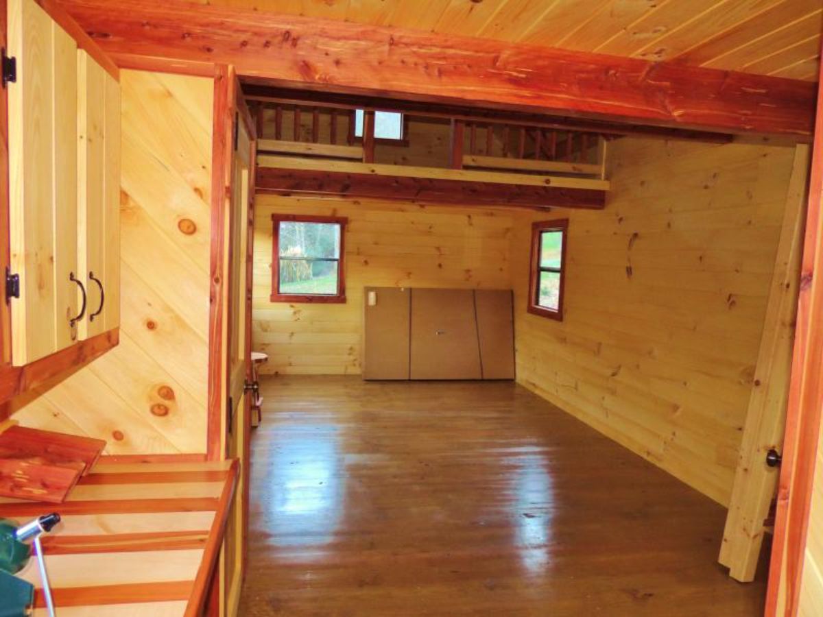
{"label": "right section of brown leaning package, beyond the slanted black strap", "polygon": [[475,290],[477,338],[484,379],[514,379],[511,290]]}

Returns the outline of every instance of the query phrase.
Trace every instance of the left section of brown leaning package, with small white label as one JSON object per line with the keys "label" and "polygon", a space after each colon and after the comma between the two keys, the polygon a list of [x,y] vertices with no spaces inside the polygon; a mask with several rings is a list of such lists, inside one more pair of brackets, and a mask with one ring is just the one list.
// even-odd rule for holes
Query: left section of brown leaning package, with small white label
{"label": "left section of brown leaning package, with small white label", "polygon": [[366,287],[364,293],[363,378],[408,379],[412,290]]}

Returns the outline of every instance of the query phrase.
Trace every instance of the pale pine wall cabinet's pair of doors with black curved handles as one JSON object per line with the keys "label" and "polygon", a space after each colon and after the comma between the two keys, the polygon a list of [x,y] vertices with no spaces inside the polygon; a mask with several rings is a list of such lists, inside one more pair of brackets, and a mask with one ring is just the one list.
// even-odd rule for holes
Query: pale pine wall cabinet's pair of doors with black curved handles
{"label": "pale pine wall cabinet's pair of doors with black curved handles", "polygon": [[[119,325],[116,72],[35,0],[8,2],[12,364]],[[97,57],[99,58],[99,56]],[[85,310],[84,310],[85,309]]]}

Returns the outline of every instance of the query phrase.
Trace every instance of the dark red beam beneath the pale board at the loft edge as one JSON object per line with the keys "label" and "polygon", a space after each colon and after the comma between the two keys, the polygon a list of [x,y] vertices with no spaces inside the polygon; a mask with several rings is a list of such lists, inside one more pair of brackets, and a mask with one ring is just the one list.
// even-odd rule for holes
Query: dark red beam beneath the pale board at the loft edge
{"label": "dark red beam beneath the pale board at the loft edge", "polygon": [[588,188],[524,186],[273,167],[258,167],[256,191],[442,205],[510,206],[533,210],[550,210],[552,207],[600,210],[606,203],[605,191]]}

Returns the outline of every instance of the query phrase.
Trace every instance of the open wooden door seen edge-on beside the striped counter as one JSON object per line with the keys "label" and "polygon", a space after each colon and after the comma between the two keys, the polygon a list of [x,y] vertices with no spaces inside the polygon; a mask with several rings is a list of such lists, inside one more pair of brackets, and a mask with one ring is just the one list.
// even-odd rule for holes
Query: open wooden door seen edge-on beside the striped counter
{"label": "open wooden door seen edge-on beside the striped counter", "polygon": [[239,485],[226,529],[226,615],[237,615],[243,586],[249,526],[249,431],[251,429],[251,310],[254,128],[240,96],[232,151],[231,211],[226,225],[228,322],[226,338],[226,455],[240,462]]}

